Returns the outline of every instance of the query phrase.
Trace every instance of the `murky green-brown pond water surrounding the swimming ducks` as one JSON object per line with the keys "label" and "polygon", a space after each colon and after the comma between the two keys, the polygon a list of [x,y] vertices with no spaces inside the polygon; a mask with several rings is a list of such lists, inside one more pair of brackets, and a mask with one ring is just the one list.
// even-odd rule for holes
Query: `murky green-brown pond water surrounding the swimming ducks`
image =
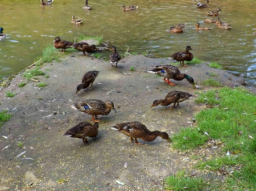
{"label": "murky green-brown pond water surrounding the swimming ducks", "polygon": [[[31,65],[42,55],[55,36],[73,41],[81,34],[101,36],[117,46],[119,53],[148,51],[159,57],[168,57],[190,45],[195,57],[217,61],[224,69],[246,79],[256,86],[256,1],[210,1],[207,9],[198,9],[204,1],[90,1],[92,10],[83,10],[84,1],[55,0],[41,6],[40,1],[1,1],[1,27],[6,39],[0,41],[0,78],[14,74]],[[139,6],[137,11],[123,12],[121,5]],[[221,8],[220,18],[232,23],[232,30],[218,29],[203,21],[206,12]],[[72,15],[84,23],[75,27]],[[213,27],[211,31],[195,31],[193,25]],[[187,23],[184,33],[166,32],[171,25]]]}

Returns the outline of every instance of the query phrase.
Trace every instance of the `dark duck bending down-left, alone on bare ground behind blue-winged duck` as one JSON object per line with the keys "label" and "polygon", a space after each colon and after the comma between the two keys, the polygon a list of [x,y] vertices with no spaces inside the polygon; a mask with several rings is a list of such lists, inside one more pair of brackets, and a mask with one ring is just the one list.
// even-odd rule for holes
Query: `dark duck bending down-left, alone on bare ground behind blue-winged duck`
{"label": "dark duck bending down-left, alone on bare ground behind blue-winged duck", "polygon": [[95,80],[95,78],[98,76],[98,73],[100,73],[100,71],[97,70],[93,70],[93,71],[87,71],[84,76],[82,77],[82,83],[79,84],[76,87],[76,94],[77,92],[79,92],[81,89],[85,89],[88,88],[89,86],[89,90],[92,90],[92,84]]}

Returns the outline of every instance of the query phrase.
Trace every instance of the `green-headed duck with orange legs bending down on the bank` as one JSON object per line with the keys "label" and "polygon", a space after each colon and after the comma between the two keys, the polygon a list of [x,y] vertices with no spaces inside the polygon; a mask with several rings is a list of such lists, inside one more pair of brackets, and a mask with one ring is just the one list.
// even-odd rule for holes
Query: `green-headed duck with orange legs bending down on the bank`
{"label": "green-headed duck with orange legs bending down on the bank", "polygon": [[168,84],[170,84],[172,86],[174,86],[176,84],[170,82],[169,79],[174,79],[177,81],[187,79],[187,81],[189,83],[191,83],[194,88],[196,88],[194,79],[187,74],[181,73],[180,70],[176,66],[172,66],[172,65],[154,66],[154,69],[148,70],[148,73],[155,73],[155,74],[158,74],[158,75],[164,77],[164,79],[163,79],[164,82],[167,82]]}

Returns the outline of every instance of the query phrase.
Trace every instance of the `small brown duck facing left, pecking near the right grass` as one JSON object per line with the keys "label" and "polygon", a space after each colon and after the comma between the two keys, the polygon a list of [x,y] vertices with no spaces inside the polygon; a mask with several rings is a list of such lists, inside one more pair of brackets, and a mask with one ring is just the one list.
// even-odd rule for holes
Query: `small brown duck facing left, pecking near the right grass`
{"label": "small brown duck facing left, pecking near the right grass", "polygon": [[192,95],[189,94],[188,92],[183,92],[183,91],[170,91],[166,97],[163,99],[159,99],[159,100],[155,100],[153,101],[153,104],[151,105],[151,108],[155,107],[156,105],[163,105],[163,106],[167,106],[170,104],[174,104],[171,108],[168,109],[174,109],[176,103],[177,106],[179,106],[179,103],[182,101],[185,101],[187,99],[189,99],[189,97],[191,97]]}

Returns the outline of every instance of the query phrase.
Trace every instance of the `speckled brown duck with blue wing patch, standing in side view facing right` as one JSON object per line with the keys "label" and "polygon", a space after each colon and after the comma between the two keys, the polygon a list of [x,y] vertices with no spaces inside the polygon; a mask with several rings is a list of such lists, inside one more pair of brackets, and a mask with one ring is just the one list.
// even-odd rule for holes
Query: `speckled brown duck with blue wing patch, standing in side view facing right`
{"label": "speckled brown duck with blue wing patch, standing in side view facing right", "polygon": [[109,114],[111,109],[113,109],[113,111],[117,113],[114,107],[114,103],[111,100],[106,100],[104,102],[98,99],[88,99],[84,101],[79,101],[74,105],[71,105],[71,108],[92,115],[92,120],[94,122],[100,122],[100,120],[96,120],[95,118],[97,118],[98,115]]}

